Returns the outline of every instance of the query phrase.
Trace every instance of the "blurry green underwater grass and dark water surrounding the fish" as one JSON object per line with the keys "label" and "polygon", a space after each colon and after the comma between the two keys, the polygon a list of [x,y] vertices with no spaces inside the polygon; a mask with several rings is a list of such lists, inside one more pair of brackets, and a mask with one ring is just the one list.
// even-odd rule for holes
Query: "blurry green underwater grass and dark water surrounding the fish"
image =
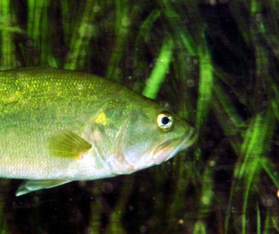
{"label": "blurry green underwater grass and dark water surrounding the fish", "polygon": [[0,16],[1,70],[114,79],[198,133],[134,175],[21,198],[1,179],[2,233],[279,232],[278,1],[2,0]]}

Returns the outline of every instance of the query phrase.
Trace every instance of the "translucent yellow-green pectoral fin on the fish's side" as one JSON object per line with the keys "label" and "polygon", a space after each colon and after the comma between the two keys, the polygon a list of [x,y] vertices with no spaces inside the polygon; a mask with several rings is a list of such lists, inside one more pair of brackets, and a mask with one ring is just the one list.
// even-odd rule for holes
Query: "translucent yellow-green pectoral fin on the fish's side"
{"label": "translucent yellow-green pectoral fin on the fish's side", "polygon": [[47,141],[51,156],[81,159],[81,156],[92,146],[82,137],[69,130],[52,134]]}

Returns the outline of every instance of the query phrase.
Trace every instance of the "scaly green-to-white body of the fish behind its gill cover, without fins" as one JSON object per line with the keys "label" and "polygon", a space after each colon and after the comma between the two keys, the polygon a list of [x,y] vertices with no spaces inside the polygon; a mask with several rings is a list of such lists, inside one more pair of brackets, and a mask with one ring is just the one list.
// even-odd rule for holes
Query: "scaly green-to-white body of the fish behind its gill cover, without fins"
{"label": "scaly green-to-white body of the fish behind its gill cover, without fins", "polygon": [[[24,75],[18,75],[19,72],[24,72]],[[61,73],[56,69],[1,72],[0,119],[1,123],[5,122],[5,128],[0,125],[0,176],[28,179],[86,179],[87,176],[100,176],[100,171],[83,175],[86,165],[69,158],[50,157],[45,148],[47,135],[51,131],[71,129],[81,134],[86,117],[94,113],[94,103],[101,85],[94,81],[93,89],[86,79],[87,74],[80,78],[77,73],[70,73],[69,77],[65,71]],[[79,89],[77,84],[82,84],[84,89]],[[4,92],[3,85],[7,87]],[[48,90],[52,87],[55,87],[57,95],[52,92],[49,96]],[[8,110],[2,111],[5,109],[3,102],[6,103],[7,97],[15,90],[20,92],[9,102]],[[113,88],[110,87],[110,90]]]}

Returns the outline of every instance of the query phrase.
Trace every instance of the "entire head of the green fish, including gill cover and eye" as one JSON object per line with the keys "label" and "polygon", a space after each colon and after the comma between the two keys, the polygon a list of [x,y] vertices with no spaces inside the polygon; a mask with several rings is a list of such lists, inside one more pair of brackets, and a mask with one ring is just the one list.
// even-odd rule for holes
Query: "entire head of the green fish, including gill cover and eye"
{"label": "entire head of the green fish, including gill cover and eye", "polygon": [[161,164],[196,138],[185,119],[142,96],[104,102],[90,129],[89,143],[117,175]]}

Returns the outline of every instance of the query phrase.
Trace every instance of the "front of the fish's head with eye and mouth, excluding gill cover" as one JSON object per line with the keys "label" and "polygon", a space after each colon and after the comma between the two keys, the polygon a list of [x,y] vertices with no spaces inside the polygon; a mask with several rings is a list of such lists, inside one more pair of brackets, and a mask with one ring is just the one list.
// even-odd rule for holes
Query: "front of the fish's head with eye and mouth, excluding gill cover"
{"label": "front of the fish's head with eye and mouth, excluding gill cover", "polygon": [[129,115],[117,147],[131,172],[171,159],[196,139],[188,121],[156,103],[134,104]]}

